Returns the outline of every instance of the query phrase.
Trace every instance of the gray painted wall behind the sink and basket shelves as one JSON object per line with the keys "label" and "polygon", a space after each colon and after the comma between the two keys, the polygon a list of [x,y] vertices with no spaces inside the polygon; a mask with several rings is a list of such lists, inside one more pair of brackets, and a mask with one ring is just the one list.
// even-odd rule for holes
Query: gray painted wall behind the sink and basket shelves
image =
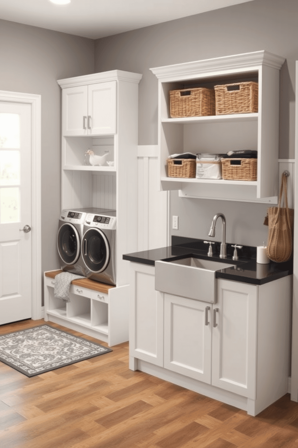
{"label": "gray painted wall behind the sink and basket shelves", "polygon": [[[96,41],[95,70],[143,73],[139,85],[139,144],[157,144],[157,78],[151,67],[268,50],[284,56],[281,68],[280,150],[294,158],[295,60],[298,60],[297,0],[254,0]],[[207,238],[213,215],[227,218],[227,241],[257,246],[267,240],[267,205],[179,198],[170,195],[172,234]],[[221,239],[220,224],[215,240]]]}

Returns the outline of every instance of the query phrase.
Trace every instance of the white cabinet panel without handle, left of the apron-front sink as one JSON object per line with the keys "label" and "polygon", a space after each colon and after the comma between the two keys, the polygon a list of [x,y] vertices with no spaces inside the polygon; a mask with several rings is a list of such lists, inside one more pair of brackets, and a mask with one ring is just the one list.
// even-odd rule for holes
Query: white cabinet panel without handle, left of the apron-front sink
{"label": "white cabinet panel without handle, left of the apron-front sink", "polygon": [[155,267],[130,263],[130,370],[137,359],[164,364],[164,294],[155,291]]}

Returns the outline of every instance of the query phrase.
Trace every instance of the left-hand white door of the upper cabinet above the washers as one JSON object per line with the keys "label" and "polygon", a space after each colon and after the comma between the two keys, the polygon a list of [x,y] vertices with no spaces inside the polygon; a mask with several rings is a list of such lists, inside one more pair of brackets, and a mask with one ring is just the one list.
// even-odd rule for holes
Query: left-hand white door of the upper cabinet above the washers
{"label": "left-hand white door of the upper cabinet above the washers", "polygon": [[88,86],[62,89],[62,134],[87,135]]}

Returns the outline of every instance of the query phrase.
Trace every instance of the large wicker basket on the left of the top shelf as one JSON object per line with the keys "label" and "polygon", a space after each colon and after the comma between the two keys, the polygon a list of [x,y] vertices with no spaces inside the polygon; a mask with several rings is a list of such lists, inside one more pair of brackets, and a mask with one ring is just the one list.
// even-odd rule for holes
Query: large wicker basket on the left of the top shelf
{"label": "large wicker basket on the left of the top shelf", "polygon": [[171,90],[170,115],[172,118],[215,115],[214,90],[205,87]]}

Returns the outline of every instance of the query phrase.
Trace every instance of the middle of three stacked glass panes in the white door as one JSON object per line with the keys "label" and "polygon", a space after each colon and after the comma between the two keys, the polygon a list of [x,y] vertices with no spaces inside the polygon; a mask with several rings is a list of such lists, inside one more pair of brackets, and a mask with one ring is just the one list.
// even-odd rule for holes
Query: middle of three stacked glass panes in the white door
{"label": "middle of three stacked glass panes in the white door", "polygon": [[20,185],[20,151],[0,150],[0,185]]}

